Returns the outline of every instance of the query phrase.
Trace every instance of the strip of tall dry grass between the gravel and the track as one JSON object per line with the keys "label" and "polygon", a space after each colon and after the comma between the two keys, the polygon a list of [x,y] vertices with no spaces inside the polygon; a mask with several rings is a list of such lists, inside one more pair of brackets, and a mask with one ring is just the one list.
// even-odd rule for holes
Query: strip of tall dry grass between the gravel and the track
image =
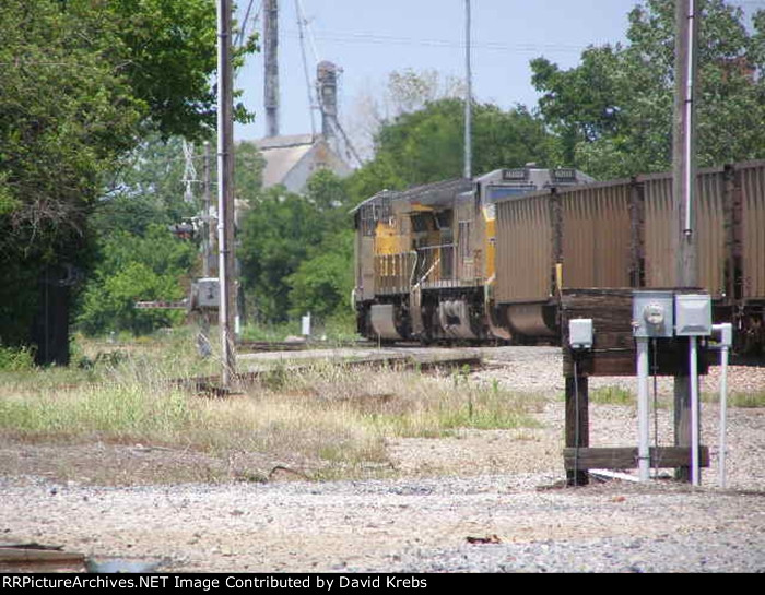
{"label": "strip of tall dry grass between the gravel and the track", "polygon": [[399,369],[319,364],[275,368],[246,394],[211,400],[167,382],[162,366],[130,358],[98,383],[67,390],[0,390],[0,432],[27,441],[149,443],[215,454],[268,453],[332,476],[385,464],[393,438],[462,428],[533,425],[534,397],[480,385],[467,374],[431,378]]}

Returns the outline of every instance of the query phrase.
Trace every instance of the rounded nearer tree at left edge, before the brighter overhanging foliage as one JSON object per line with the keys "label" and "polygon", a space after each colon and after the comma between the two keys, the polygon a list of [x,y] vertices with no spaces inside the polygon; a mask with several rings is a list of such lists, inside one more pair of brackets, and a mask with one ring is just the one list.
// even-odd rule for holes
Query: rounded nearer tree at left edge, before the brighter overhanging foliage
{"label": "rounded nearer tree at left edge, before the brighter overhanging foliage", "polygon": [[19,344],[30,342],[38,294],[50,286],[38,279],[84,260],[101,176],[131,146],[142,103],[106,66],[103,40],[85,41],[79,20],[58,3],[3,4],[0,341]]}

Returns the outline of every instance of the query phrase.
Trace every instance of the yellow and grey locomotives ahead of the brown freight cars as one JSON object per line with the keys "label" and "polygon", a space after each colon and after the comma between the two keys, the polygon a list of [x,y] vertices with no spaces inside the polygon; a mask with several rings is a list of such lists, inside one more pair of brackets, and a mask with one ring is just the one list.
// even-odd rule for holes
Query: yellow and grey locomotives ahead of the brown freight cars
{"label": "yellow and grey locomotives ahead of the brown freight cars", "polygon": [[496,205],[588,181],[574,169],[498,169],[364,201],[354,210],[358,332],[423,343],[510,340],[493,295]]}

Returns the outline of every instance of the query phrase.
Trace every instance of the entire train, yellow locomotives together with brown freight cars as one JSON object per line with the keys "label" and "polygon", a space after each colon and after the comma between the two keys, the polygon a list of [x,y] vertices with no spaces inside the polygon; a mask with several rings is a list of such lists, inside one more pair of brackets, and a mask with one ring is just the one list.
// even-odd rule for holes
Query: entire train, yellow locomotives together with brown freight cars
{"label": "entire train, yellow locomotives together with brown freight cars", "polygon": [[[698,172],[699,288],[739,349],[765,347],[765,162]],[[671,174],[593,182],[501,169],[354,210],[358,332],[375,341],[560,338],[572,288],[675,287]]]}

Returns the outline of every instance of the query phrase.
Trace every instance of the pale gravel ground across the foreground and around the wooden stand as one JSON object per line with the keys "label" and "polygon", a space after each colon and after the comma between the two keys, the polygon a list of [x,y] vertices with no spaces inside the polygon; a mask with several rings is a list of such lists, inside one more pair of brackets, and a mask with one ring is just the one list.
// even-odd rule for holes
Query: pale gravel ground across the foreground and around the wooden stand
{"label": "pale gravel ground across the foreground and around the wooden stand", "polygon": [[[480,381],[562,392],[557,349],[483,354]],[[730,382],[765,390],[760,369],[731,369]],[[590,412],[593,445],[636,442],[633,406]],[[669,440],[671,413],[658,413]],[[730,412],[725,490],[717,405],[702,418],[711,468],[701,488],[561,488],[563,404],[550,400],[540,428],[391,442],[398,480],[105,488],[16,469],[0,477],[0,540],[179,572],[765,572],[765,409]]]}

